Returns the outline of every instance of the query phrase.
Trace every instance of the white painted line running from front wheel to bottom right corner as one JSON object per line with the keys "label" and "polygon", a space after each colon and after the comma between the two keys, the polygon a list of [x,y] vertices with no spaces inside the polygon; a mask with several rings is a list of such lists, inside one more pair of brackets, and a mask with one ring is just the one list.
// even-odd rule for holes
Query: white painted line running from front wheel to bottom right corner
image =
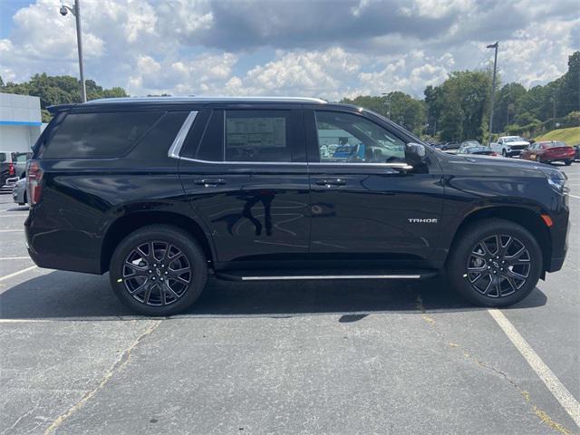
{"label": "white painted line running from front wheel to bottom right corner", "polygon": [[556,400],[562,405],[568,415],[580,427],[580,403],[568,391],[564,384],[556,377],[556,374],[550,370],[540,356],[532,349],[526,339],[517,332],[516,327],[509,322],[507,317],[497,308],[488,309],[488,313],[493,317],[499,327],[506,333],[507,338],[514,344],[516,349],[526,359],[530,367],[536,372],[537,376],[544,382],[547,389],[554,395]]}

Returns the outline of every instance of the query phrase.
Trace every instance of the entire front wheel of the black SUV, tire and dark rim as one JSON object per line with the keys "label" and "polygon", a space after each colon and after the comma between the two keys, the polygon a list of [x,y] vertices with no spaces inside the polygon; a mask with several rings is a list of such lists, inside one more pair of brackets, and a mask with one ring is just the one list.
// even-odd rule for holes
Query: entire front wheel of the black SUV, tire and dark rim
{"label": "entire front wheel of the black SUV, tire and dark rim", "polygon": [[[498,240],[502,250],[507,251],[503,256],[501,250],[494,252]],[[543,265],[542,249],[525,227],[490,218],[474,222],[456,237],[447,262],[447,277],[459,295],[472,304],[499,307],[527,297],[534,290]]]}

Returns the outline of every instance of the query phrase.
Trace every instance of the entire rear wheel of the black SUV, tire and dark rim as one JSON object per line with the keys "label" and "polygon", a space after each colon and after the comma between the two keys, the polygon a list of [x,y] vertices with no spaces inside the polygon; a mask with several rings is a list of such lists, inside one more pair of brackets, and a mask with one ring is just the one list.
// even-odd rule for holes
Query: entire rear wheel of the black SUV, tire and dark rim
{"label": "entire rear wheel of the black SUV, tire and dark rim", "polygon": [[132,232],[116,247],[109,278],[115,295],[132,311],[178,314],[198,299],[206,285],[207,259],[187,232],[151,225]]}

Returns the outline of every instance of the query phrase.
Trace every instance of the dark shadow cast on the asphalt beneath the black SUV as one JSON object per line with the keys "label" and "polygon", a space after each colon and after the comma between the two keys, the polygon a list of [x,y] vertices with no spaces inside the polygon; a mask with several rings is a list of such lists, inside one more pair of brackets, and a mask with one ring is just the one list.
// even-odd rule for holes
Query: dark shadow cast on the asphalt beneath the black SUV
{"label": "dark shadow cast on the asphalt beneath the black SUV", "polygon": [[[515,308],[546,304],[535,289]],[[474,307],[459,298],[442,279],[403,281],[301,281],[237,283],[210,278],[198,302],[185,314],[197,316],[296,316],[343,314],[354,322],[365,314],[469,312]],[[361,317],[362,316],[362,317]],[[108,275],[54,271],[14,285],[0,295],[1,319],[114,320],[140,318],[113,294]]]}

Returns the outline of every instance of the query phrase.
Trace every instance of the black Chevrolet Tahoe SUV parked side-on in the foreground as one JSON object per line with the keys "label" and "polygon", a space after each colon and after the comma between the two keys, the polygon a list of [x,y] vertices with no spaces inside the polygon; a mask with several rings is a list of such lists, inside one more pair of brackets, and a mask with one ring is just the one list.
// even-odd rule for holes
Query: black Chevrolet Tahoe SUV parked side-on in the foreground
{"label": "black Chevrolet Tahoe SUV parked side-on in the foreground", "polygon": [[183,311],[208,275],[423,279],[514,304],[562,267],[565,175],[454,156],[359,107],[147,98],[53,107],[28,166],[30,256],[109,271],[142,314]]}

